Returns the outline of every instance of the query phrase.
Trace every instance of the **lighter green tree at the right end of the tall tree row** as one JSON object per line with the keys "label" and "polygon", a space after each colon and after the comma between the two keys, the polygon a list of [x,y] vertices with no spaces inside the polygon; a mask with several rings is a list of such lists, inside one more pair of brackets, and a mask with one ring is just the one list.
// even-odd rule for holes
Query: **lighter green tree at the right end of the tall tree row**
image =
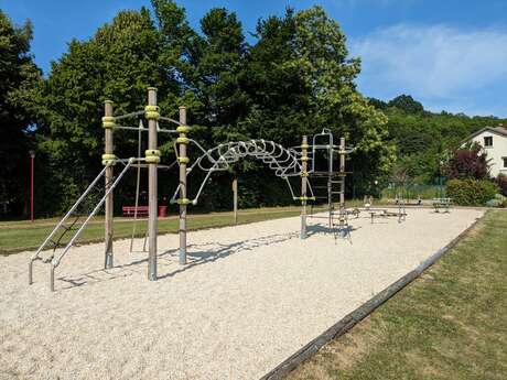
{"label": "lighter green tree at the right end of the tall tree row", "polygon": [[355,145],[352,167],[368,178],[356,183],[370,192],[368,187],[388,173],[395,159],[387,140],[387,118],[357,90],[360,61],[348,56],[339,24],[321,7],[314,7],[298,12],[296,25],[295,65],[305,68],[313,119]]}

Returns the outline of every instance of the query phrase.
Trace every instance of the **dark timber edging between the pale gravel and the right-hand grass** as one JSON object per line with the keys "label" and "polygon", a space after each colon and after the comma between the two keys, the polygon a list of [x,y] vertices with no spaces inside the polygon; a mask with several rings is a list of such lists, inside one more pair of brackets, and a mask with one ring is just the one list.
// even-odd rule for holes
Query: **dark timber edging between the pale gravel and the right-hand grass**
{"label": "dark timber edging between the pale gravel and the right-hand grass", "polygon": [[301,349],[295,351],[289,358],[283,360],[280,365],[273,368],[271,371],[266,373],[260,380],[280,380],[283,379],[289,372],[294,370],[301,362],[310,358],[314,355],[322,346],[327,344],[334,338],[337,338],[345,333],[347,333],[352,327],[354,327],[357,323],[364,319],[366,316],[371,314],[377,307],[392,297],[396,293],[402,290],[404,286],[410,284],[413,280],[419,278],[428,268],[433,265],[445,252],[447,252],[451,248],[456,246],[456,243],[466,235],[470,230],[472,230],[479,220],[484,218],[486,213],[476,218],[475,221],[468,226],[465,230],[463,230],[459,236],[456,236],[451,242],[449,242],[445,247],[439,249],[431,257],[425,259],[421,262],[414,270],[407,273],[399,280],[391,283],[389,286],[384,289],[381,292],[377,293],[373,298],[360,305],[358,308],[353,311],[352,313],[344,316],[341,321],[336,324],[331,326],[315,339],[310,341],[308,345],[303,346]]}

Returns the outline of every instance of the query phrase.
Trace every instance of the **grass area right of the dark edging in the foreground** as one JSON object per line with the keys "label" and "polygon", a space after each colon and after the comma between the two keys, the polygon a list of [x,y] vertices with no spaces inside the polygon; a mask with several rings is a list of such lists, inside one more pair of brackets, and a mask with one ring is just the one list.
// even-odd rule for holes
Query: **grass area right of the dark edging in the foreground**
{"label": "grass area right of the dark edging in the foreground", "polygon": [[507,379],[507,213],[288,379]]}

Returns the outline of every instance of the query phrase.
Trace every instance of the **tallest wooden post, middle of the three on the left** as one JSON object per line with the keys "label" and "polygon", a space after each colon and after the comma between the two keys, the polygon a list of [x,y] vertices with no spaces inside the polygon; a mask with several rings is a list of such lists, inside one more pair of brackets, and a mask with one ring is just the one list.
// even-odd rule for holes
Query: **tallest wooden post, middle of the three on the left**
{"label": "tallest wooden post, middle of the three on the left", "polygon": [[[148,280],[157,280],[157,217],[158,217],[158,183],[157,183],[157,88],[148,88]],[[160,159],[159,159],[160,160]]]}

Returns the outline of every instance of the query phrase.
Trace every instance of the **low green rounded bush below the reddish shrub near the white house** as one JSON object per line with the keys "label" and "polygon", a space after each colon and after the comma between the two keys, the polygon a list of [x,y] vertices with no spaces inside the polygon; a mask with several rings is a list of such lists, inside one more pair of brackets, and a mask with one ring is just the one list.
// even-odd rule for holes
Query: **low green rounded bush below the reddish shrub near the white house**
{"label": "low green rounded bush below the reddish shrub near the white house", "polygon": [[495,197],[496,192],[496,185],[487,180],[451,180],[446,194],[456,205],[484,206]]}

